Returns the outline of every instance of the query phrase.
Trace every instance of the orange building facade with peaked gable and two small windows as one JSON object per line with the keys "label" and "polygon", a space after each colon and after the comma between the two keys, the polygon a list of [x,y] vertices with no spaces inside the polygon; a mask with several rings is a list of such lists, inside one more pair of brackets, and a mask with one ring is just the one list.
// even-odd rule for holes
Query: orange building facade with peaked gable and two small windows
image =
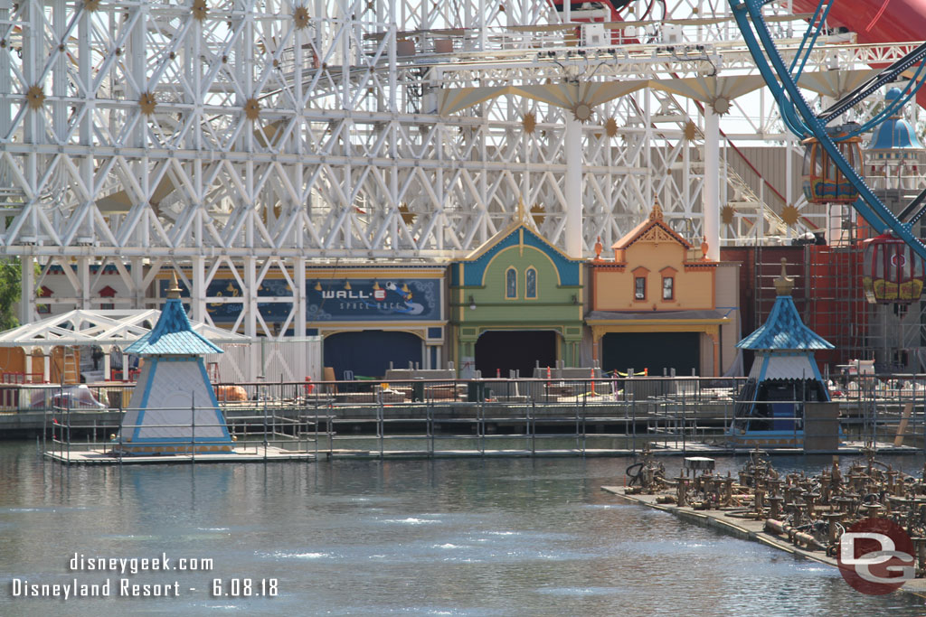
{"label": "orange building facade with peaked gable and two small windows", "polygon": [[595,246],[591,272],[593,357],[606,371],[720,376],[739,340],[738,265],[714,262],[663,220],[647,219],[611,247]]}

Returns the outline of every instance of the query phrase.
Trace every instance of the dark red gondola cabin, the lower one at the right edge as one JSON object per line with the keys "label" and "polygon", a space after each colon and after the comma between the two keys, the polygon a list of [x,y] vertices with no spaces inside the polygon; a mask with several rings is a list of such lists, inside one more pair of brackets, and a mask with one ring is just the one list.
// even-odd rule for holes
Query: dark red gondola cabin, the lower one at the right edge
{"label": "dark red gondola cabin, the lower one at the right edge", "polygon": [[864,242],[862,289],[872,304],[920,301],[923,260],[905,241],[883,233]]}

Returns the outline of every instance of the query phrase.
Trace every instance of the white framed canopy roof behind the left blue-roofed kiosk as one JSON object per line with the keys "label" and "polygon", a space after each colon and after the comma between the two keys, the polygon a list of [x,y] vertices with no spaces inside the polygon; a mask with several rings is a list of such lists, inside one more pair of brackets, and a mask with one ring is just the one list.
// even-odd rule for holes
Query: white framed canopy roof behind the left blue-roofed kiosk
{"label": "white framed canopy roof behind the left blue-roofed kiosk", "polygon": [[[45,353],[58,345],[99,345],[104,352],[123,350],[155,327],[157,309],[69,311],[0,333],[0,347],[21,347]],[[251,339],[220,327],[191,322],[194,332],[217,344],[247,344]]]}

